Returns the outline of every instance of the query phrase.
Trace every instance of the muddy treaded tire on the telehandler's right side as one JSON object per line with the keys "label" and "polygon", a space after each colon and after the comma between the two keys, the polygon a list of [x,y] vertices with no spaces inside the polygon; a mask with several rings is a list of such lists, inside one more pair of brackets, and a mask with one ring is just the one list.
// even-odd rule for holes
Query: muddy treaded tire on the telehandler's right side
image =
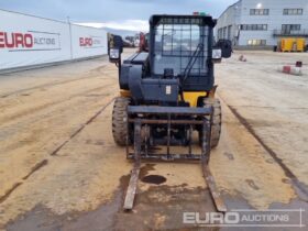
{"label": "muddy treaded tire on the telehandler's right side", "polygon": [[[204,107],[213,107],[213,118],[211,124],[211,148],[215,148],[219,144],[221,133],[221,105],[219,99],[206,98],[204,99]],[[202,132],[199,132],[199,140],[201,141]]]}

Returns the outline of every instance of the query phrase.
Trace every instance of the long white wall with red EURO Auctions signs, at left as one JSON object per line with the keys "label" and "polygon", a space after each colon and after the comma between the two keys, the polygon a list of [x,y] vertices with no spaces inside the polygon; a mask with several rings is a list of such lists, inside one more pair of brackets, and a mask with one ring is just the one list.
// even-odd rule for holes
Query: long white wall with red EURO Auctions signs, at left
{"label": "long white wall with red EURO Auctions signs, at left", "polygon": [[107,32],[0,10],[0,70],[107,54]]}

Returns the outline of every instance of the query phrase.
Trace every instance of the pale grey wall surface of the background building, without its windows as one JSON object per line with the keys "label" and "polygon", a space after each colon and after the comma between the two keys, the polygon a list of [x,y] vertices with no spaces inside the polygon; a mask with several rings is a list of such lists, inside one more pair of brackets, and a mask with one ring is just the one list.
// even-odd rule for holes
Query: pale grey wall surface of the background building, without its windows
{"label": "pale grey wall surface of the background building, without its windows", "polygon": [[[251,15],[251,9],[268,9],[268,15]],[[284,9],[302,9],[302,15],[284,15]],[[234,12],[235,16],[234,16]],[[274,36],[274,31],[282,31],[283,24],[300,24],[300,31],[308,33],[308,0],[241,0],[230,7],[218,20],[217,31],[230,23],[239,29],[241,24],[266,24],[266,31],[239,32],[239,40],[232,36],[234,44],[249,45],[249,41],[265,40],[266,46],[277,45],[279,36]],[[233,31],[237,36],[237,30]],[[228,38],[228,37],[224,37]]]}

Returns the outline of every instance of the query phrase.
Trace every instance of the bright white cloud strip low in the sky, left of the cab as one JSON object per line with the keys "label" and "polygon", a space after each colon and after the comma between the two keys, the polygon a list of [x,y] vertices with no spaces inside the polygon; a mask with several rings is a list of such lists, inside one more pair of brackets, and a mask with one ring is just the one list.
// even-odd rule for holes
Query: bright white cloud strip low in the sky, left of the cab
{"label": "bright white cloud strip low in the sky, left of the cab", "polygon": [[142,31],[142,32],[148,31],[148,21],[145,21],[145,20],[82,22],[82,23],[76,23],[76,24],[92,26],[92,28],[109,28],[109,29],[127,30],[127,31]]}

